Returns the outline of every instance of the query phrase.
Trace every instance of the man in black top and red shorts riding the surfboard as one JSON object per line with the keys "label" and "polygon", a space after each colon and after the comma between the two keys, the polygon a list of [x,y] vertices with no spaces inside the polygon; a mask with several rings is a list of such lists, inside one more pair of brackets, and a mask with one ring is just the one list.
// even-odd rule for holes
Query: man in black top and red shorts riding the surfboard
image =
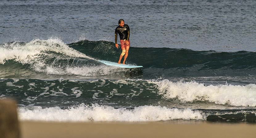
{"label": "man in black top and red shorts riding the surfboard", "polygon": [[120,36],[120,44],[121,44],[121,49],[122,49],[122,53],[119,57],[119,61],[118,64],[121,64],[121,59],[124,56],[124,61],[123,64],[125,64],[125,61],[127,59],[128,56],[128,52],[129,52],[129,48],[130,48],[130,28],[128,25],[124,24],[124,20],[120,19],[118,21],[119,26],[116,28],[115,30],[115,44],[116,44],[116,48],[118,48],[118,44],[117,44],[117,34],[119,34]]}

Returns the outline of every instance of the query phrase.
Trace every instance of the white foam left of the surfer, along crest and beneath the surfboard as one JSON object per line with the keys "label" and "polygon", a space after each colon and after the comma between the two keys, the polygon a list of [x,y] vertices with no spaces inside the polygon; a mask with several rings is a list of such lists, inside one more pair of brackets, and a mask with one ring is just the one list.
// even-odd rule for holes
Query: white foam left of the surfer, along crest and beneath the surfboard
{"label": "white foam left of the surfer, along crest and beneath the surfboard", "polygon": [[[113,73],[113,71],[114,73],[120,72],[120,68],[118,69],[118,67],[109,67],[106,65],[79,65],[79,67],[69,67],[68,65],[66,67],[55,66],[54,62],[58,62],[60,59],[69,60],[73,58],[85,58],[95,60],[73,48],[68,47],[67,44],[59,39],[35,39],[26,44],[5,44],[0,47],[0,51],[2,51],[2,54],[0,54],[1,64],[12,59],[22,64],[29,64],[34,71],[44,72],[46,74],[99,76],[109,75]],[[59,53],[60,56],[56,57],[56,54],[54,53]],[[51,63],[47,63],[47,59],[54,58],[55,61],[53,61],[53,65]]]}

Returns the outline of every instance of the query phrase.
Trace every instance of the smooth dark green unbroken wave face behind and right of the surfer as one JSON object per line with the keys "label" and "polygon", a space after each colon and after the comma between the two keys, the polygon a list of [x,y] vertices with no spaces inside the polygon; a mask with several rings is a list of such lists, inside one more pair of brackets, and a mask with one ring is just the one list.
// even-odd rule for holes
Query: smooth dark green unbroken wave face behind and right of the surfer
{"label": "smooth dark green unbroken wave face behind and right of the surfer", "polygon": [[[81,40],[68,45],[93,58],[112,62],[118,61],[121,52],[120,48],[114,47],[113,42],[103,40]],[[256,52],[217,52],[175,48],[131,47],[127,62],[149,68],[149,72],[154,75],[256,75]]]}

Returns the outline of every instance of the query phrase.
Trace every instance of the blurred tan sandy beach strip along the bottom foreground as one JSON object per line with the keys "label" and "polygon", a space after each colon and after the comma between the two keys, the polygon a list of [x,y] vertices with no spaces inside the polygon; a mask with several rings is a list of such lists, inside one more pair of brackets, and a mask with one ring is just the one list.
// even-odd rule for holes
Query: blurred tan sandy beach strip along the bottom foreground
{"label": "blurred tan sandy beach strip along the bottom foreground", "polygon": [[39,122],[21,121],[22,138],[127,138],[127,137],[255,137],[256,125],[249,123],[199,122]]}

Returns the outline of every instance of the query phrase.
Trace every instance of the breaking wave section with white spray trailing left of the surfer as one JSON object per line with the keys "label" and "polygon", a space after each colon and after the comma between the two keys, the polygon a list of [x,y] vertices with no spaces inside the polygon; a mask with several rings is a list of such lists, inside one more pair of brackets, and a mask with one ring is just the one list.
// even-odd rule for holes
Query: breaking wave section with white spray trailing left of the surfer
{"label": "breaking wave section with white spray trailing left of the surfer", "polygon": [[36,73],[100,76],[124,71],[99,63],[58,39],[5,43],[0,45],[0,51],[3,53],[0,56],[1,76],[20,77]]}

